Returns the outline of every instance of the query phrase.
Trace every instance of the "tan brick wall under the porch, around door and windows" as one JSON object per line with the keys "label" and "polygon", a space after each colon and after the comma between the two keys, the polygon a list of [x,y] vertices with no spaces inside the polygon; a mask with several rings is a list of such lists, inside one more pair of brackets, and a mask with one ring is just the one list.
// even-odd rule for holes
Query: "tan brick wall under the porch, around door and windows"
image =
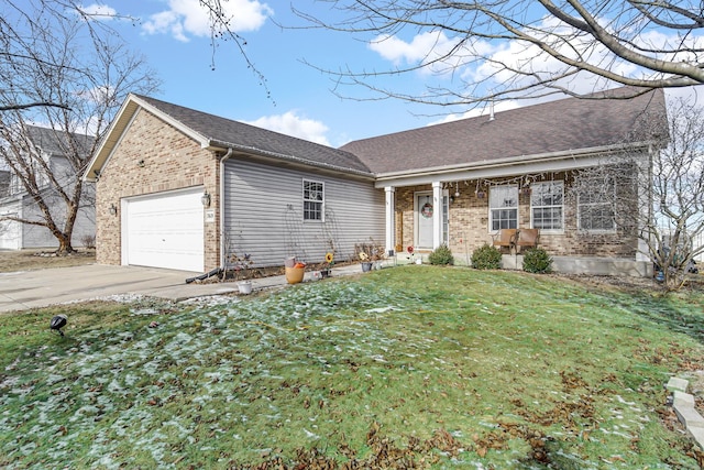
{"label": "tan brick wall under the porch, around door and windows", "polygon": [[[564,177],[564,175],[560,175]],[[556,179],[559,179],[556,177]],[[568,192],[569,178],[565,181]],[[488,190],[479,198],[474,186],[460,185],[460,197],[450,204],[450,249],[464,261],[484,243],[492,243],[488,228]],[[432,190],[430,185],[396,188],[396,244],[414,244],[414,193]],[[452,190],[450,193],[453,193]],[[576,230],[576,203],[565,195],[563,233],[541,233],[540,247],[559,256],[613,256],[635,259],[637,238],[623,233],[583,233]],[[518,227],[530,227],[530,195],[519,195]]]}

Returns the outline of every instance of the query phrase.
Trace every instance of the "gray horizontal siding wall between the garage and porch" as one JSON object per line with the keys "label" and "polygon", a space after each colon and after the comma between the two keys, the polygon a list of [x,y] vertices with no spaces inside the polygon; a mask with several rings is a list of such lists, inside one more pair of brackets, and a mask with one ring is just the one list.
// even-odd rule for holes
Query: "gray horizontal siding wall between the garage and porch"
{"label": "gray horizontal siding wall between the garage and porch", "polygon": [[[324,221],[304,221],[304,179],[324,184]],[[280,266],[288,256],[320,263],[332,248],[349,260],[354,244],[384,243],[384,192],[350,181],[243,160],[226,162],[224,231],[230,252],[255,266]]]}

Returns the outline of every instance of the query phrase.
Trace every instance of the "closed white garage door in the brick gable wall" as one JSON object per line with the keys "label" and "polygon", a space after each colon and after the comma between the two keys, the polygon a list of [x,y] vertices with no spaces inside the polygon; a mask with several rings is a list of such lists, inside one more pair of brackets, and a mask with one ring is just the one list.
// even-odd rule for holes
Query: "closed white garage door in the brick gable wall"
{"label": "closed white garage door in the brick gable wall", "polygon": [[196,188],[127,199],[123,264],[202,272],[201,195]]}

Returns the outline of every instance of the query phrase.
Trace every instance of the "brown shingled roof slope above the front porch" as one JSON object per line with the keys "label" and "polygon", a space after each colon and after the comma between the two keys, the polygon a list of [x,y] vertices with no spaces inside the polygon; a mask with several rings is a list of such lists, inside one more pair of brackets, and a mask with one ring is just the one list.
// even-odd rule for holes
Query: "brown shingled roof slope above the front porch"
{"label": "brown shingled roof slope above the front porch", "polygon": [[341,150],[360,157],[376,174],[468,165],[510,157],[597,149],[624,143],[648,110],[664,109],[662,90],[623,98],[627,87],[566,98],[443,124],[363,139]]}

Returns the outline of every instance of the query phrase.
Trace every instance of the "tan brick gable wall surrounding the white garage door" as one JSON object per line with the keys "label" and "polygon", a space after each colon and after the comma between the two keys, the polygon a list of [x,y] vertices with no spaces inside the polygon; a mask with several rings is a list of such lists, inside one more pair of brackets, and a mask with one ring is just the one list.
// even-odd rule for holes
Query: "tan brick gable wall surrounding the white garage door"
{"label": "tan brick gable wall surrounding the white garage door", "polygon": [[[150,112],[140,110],[97,183],[96,261],[121,264],[122,198],[204,186],[211,197],[210,207],[218,208],[218,167],[213,152],[201,149],[193,139]],[[117,217],[110,215],[112,204],[118,207]],[[216,210],[216,221],[205,225],[206,271],[220,264],[219,227]]]}

